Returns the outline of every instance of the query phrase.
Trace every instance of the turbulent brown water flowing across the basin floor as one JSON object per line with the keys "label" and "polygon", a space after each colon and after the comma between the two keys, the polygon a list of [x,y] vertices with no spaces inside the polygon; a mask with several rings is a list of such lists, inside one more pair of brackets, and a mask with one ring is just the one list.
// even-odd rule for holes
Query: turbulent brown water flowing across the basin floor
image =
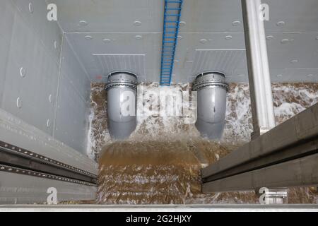
{"label": "turbulent brown water flowing across the basin floor", "polygon": [[[143,95],[158,85],[143,85]],[[189,85],[175,85],[176,92]],[[278,124],[318,102],[318,84],[273,84]],[[216,162],[249,141],[252,116],[249,87],[230,84],[225,132],[220,143],[199,136],[194,124],[180,117],[142,115],[127,141],[116,142],[107,132],[105,86],[92,85],[88,154],[100,163],[98,203],[211,204],[258,203],[254,191],[201,194],[201,167]],[[144,102],[140,101],[141,108]],[[316,203],[311,188],[288,189],[288,203]]]}

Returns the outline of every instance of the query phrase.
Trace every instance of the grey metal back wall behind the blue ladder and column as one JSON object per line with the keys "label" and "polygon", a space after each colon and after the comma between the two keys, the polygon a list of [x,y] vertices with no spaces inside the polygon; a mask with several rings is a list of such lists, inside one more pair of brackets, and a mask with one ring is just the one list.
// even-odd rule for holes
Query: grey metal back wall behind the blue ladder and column
{"label": "grey metal back wall behind the blue ladder and column", "polygon": [[[145,54],[146,81],[159,81],[163,1],[51,1],[59,7],[59,23],[72,37],[70,42],[93,81],[105,82],[105,79],[98,79],[105,76],[100,74],[102,67],[91,57],[96,53]],[[265,28],[271,80],[318,82],[318,1],[263,2],[270,7],[270,20],[265,22]],[[193,62],[211,60],[196,58],[197,49],[223,49],[225,52],[245,49],[240,0],[184,0],[181,20],[173,82],[192,82]],[[209,71],[216,70],[213,64],[208,67]],[[227,81],[248,81],[245,61],[232,70]]]}

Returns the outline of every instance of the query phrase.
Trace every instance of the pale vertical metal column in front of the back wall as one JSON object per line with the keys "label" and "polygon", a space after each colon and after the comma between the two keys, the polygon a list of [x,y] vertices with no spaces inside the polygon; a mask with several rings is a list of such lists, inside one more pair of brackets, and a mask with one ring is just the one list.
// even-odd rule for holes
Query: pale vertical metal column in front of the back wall
{"label": "pale vertical metal column in front of the back wall", "polygon": [[271,77],[267,56],[261,0],[242,0],[242,12],[252,102],[252,139],[276,126],[271,93]]}

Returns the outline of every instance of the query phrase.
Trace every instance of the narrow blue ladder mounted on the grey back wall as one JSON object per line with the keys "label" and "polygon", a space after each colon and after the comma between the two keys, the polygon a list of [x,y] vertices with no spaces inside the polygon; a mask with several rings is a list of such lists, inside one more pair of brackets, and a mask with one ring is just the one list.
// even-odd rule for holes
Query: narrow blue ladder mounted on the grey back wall
{"label": "narrow blue ladder mounted on the grey back wall", "polygon": [[160,85],[171,85],[183,0],[165,0]]}

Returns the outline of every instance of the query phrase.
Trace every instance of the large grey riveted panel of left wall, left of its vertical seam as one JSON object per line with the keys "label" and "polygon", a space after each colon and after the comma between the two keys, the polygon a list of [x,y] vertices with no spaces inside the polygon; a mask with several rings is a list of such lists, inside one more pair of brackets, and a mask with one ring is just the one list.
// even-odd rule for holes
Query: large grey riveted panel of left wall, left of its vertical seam
{"label": "large grey riveted panel of left wall, left of its vertical seam", "polygon": [[[42,29],[31,24],[31,18],[46,20],[45,10],[37,9],[33,13],[30,11],[27,13],[23,11],[22,2],[26,3],[26,1],[1,1],[1,4],[7,6],[6,10],[11,10],[11,14],[14,15],[12,28],[8,28],[11,35],[6,35],[10,40],[5,40],[9,49],[4,57],[6,73],[1,88],[3,91],[1,108],[52,135],[52,121],[54,121],[52,97],[57,92],[60,47],[57,44],[57,49],[52,49],[48,44],[54,47],[54,40],[60,43],[61,31],[58,30],[57,23],[42,24]],[[38,1],[34,6],[46,5],[45,2]],[[47,34],[47,39],[44,36],[42,39],[40,30],[49,31],[51,28],[59,32],[53,37]],[[56,39],[51,40],[55,37]]]}

